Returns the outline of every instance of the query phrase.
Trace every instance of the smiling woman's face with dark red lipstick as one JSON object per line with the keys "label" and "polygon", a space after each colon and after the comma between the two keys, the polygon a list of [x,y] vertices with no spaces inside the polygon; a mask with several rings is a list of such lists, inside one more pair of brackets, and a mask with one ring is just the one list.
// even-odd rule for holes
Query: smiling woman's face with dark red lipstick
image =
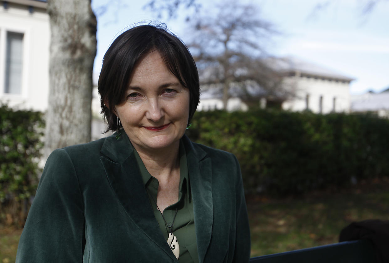
{"label": "smiling woman's face with dark red lipstick", "polygon": [[189,90],[152,51],[135,65],[115,111],[136,150],[178,148],[189,118]]}

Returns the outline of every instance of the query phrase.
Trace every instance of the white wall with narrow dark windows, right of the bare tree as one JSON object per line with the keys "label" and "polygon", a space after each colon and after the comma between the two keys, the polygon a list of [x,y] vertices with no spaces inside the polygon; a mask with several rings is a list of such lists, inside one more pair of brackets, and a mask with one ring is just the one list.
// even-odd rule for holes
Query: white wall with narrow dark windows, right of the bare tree
{"label": "white wall with narrow dark windows, right of the bare tree", "polygon": [[[308,108],[314,113],[320,112],[320,97],[322,96],[321,113],[333,111],[335,98],[336,112],[350,111],[349,82],[328,80],[323,78],[286,77],[285,82],[293,86],[295,97],[282,104],[284,110],[302,111],[306,109],[306,97],[309,95]],[[292,84],[292,85],[291,85]]]}

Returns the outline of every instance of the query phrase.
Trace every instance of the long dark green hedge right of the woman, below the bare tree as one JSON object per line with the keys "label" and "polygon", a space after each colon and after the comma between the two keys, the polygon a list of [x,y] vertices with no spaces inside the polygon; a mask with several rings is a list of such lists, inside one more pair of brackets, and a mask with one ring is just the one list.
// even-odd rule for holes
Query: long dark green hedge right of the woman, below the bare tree
{"label": "long dark green hedge right of the woman, below the bare tree", "polygon": [[299,195],[389,176],[389,120],[369,114],[197,112],[187,135],[234,153],[249,193]]}

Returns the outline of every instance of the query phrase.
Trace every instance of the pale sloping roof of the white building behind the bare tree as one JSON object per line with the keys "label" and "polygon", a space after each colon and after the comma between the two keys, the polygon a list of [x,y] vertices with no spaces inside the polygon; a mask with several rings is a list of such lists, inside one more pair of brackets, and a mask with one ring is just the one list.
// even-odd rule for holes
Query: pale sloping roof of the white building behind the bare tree
{"label": "pale sloping roof of the white building behind the bare tree", "polygon": [[317,77],[326,77],[334,78],[338,80],[352,81],[354,78],[347,77],[341,73],[331,70],[329,68],[319,66],[317,64],[303,61],[296,57],[284,57],[272,59],[275,70],[284,71],[284,72],[300,72],[302,74],[317,76]]}

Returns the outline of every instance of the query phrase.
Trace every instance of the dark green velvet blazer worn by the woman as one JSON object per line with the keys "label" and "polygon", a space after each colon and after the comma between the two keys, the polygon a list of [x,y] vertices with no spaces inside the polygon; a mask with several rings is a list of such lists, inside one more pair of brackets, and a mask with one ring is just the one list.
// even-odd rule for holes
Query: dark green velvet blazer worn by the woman
{"label": "dark green velvet blazer worn by the woman", "polygon": [[[248,262],[249,223],[236,157],[182,140],[200,263]],[[16,262],[178,262],[154,217],[125,132],[50,155]]]}

